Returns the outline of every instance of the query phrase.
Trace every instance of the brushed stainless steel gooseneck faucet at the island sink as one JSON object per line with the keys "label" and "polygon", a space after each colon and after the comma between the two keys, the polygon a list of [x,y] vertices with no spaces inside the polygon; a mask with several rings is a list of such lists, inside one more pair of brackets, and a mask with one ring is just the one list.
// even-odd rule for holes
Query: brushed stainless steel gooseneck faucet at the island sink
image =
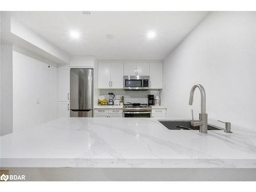
{"label": "brushed stainless steel gooseneck faucet at the island sink", "polygon": [[192,110],[192,120],[190,121],[192,126],[199,126],[199,132],[207,133],[207,114],[206,114],[206,98],[205,90],[201,84],[195,84],[190,91],[189,105],[193,104],[195,89],[198,88],[201,93],[201,113],[199,114],[199,120],[194,120],[193,110]]}

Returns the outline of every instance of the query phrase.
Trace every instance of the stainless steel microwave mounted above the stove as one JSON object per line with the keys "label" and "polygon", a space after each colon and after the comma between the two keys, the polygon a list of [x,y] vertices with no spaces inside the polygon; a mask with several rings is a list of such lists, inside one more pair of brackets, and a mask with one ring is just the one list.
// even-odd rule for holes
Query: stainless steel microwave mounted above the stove
{"label": "stainless steel microwave mounted above the stove", "polygon": [[124,90],[149,90],[150,76],[123,76]]}

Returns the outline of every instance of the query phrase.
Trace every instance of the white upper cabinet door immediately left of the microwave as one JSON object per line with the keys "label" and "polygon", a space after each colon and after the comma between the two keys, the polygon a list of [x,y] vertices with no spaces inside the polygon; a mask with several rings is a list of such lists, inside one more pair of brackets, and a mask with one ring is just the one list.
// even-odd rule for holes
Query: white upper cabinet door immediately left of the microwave
{"label": "white upper cabinet door immediately left of the microwave", "polygon": [[123,63],[111,63],[111,88],[123,89]]}

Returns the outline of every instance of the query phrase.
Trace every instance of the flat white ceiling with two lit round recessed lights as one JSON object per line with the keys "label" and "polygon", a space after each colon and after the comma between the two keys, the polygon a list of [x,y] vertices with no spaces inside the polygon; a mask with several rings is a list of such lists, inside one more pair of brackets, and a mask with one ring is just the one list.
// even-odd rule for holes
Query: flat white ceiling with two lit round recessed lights
{"label": "flat white ceiling with two lit round recessed lights", "polygon": [[[208,12],[11,12],[20,22],[72,55],[99,60],[163,60]],[[77,40],[69,35],[78,31]],[[155,31],[154,39],[147,38]],[[112,34],[113,39],[106,38]]]}

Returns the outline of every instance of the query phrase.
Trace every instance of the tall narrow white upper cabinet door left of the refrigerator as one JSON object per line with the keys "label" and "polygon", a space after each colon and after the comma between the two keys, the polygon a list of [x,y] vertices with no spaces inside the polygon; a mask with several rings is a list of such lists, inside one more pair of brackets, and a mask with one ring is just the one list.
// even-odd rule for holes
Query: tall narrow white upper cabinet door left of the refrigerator
{"label": "tall narrow white upper cabinet door left of the refrigerator", "polygon": [[70,68],[58,70],[58,101],[69,101]]}

